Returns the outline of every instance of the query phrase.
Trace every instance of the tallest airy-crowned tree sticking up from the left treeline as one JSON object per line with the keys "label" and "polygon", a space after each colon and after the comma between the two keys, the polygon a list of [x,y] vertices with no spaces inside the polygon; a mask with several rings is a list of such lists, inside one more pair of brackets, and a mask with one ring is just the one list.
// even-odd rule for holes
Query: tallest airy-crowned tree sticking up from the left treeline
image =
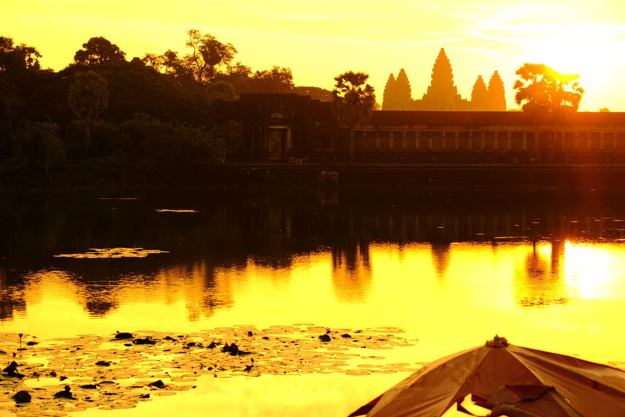
{"label": "tallest airy-crowned tree sticking up from the left treeline", "polygon": [[237,53],[231,43],[221,43],[209,33],[202,35],[197,29],[191,29],[187,34],[186,46],[192,53],[184,56],[183,61],[192,70],[197,83],[211,81],[219,66],[229,65]]}

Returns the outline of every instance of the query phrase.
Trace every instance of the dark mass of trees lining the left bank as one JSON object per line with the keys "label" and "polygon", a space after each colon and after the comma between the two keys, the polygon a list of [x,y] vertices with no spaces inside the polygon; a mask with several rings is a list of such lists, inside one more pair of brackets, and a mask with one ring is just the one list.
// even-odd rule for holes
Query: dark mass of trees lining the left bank
{"label": "dark mass of trees lining the left bank", "polygon": [[0,180],[108,181],[129,163],[221,163],[237,158],[240,128],[215,125],[219,101],[241,93],[331,100],[322,88],[294,86],[289,68],[252,71],[211,34],[190,30],[183,42],[182,52],[128,59],[91,38],[55,72],[36,47],[0,36]]}

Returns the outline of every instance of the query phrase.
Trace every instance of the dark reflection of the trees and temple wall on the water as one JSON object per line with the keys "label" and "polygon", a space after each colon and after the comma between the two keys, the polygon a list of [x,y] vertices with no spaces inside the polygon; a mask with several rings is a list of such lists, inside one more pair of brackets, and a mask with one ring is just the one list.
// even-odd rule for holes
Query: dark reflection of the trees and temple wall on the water
{"label": "dark reflection of the trees and temple wall on the water", "polygon": [[[565,240],[622,239],[622,223],[611,219],[621,210],[621,200],[593,205],[569,191],[514,192],[502,198],[501,192],[320,188],[317,193],[302,189],[204,194],[181,189],[146,191],[144,198],[124,204],[76,200],[63,193],[33,192],[30,197],[23,205],[9,198],[0,204],[6,219],[6,239],[0,241],[6,257],[0,259],[0,320],[11,321],[32,299],[26,292],[32,291],[33,274],[24,271],[61,271],[58,274],[66,275],[61,282],[71,281],[79,303],[92,316],[106,316],[127,302],[149,301],[158,294],[167,302],[184,300],[189,317],[197,319],[236,304],[230,285],[251,264],[275,269],[277,273],[269,272],[279,285],[297,279],[281,272],[298,259],[330,253],[337,299],[359,302],[371,287],[371,244],[431,244],[429,259],[443,277],[454,242],[526,241],[552,235],[557,240],[552,242],[551,261],[546,251],[528,250],[527,259],[517,265],[515,299],[535,306],[566,300],[561,286]],[[200,211],[154,212],[155,207],[163,208],[165,199]],[[49,205],[42,203],[48,200]],[[32,219],[48,219],[49,227]],[[86,247],[113,247],[120,239],[124,245],[170,252],[143,259],[53,257]]]}

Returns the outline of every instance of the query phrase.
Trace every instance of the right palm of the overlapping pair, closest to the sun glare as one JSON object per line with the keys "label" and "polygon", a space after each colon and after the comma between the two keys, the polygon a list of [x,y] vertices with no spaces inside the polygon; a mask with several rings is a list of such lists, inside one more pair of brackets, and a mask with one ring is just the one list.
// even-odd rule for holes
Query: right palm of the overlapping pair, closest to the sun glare
{"label": "right palm of the overlapping pair, closest to the sun glare", "polygon": [[549,83],[550,111],[553,118],[554,132],[551,141],[551,151],[547,163],[550,163],[556,152],[556,139],[558,127],[562,120],[566,119],[572,112],[577,111],[579,102],[584,95],[584,89],[579,86],[579,75],[564,74],[549,68],[547,82]]}

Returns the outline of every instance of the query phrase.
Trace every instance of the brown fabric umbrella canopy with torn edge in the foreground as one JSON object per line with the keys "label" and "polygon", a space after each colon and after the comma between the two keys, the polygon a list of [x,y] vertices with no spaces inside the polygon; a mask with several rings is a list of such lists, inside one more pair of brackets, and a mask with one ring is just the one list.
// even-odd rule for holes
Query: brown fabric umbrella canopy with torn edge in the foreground
{"label": "brown fabric umbrella canopy with torn edge in the foreground", "polygon": [[[514,389],[506,391],[506,385],[543,388],[536,388],[531,394],[534,398],[522,398],[530,388],[524,393],[517,388],[518,401],[506,403],[514,395]],[[541,389],[542,393],[536,394]],[[497,406],[507,406],[509,411],[516,408],[515,416],[559,415],[528,410],[532,399],[536,401],[534,408],[539,403],[557,403],[567,417],[625,416],[625,372],[571,356],[514,346],[497,336],[485,346],[427,364],[350,416],[439,417],[468,394],[492,411]],[[526,414],[522,414],[524,409]]]}

